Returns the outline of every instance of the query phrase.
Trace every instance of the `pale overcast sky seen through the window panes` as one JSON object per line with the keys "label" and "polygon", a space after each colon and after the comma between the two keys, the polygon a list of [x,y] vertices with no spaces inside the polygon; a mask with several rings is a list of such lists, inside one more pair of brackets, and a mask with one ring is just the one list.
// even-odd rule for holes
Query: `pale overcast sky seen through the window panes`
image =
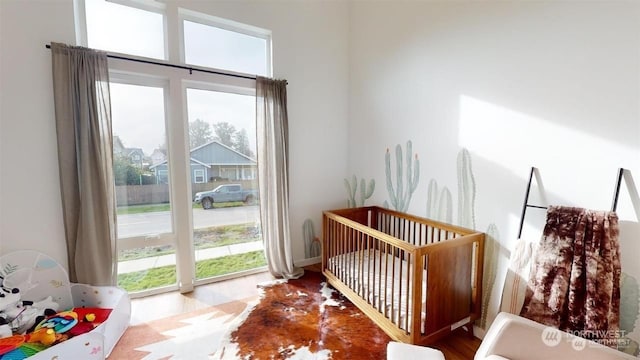
{"label": "pale overcast sky seen through the window panes", "polygon": [[[162,58],[164,40],[160,15],[101,0],[87,0],[89,47]],[[266,42],[255,37],[185,22],[185,53],[190,64],[266,74]],[[165,143],[164,96],[161,88],[112,83],[113,133],[125,147],[146,155]],[[226,121],[246,129],[255,151],[253,96],[187,89],[188,120]]]}

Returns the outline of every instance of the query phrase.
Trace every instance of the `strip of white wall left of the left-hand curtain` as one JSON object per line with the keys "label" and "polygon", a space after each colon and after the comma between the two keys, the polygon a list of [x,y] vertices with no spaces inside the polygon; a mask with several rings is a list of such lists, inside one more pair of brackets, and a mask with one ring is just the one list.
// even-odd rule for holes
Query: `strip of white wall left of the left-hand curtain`
{"label": "strip of white wall left of the left-hand curtain", "polygon": [[0,253],[67,263],[50,41],[73,43],[72,3],[0,1]]}

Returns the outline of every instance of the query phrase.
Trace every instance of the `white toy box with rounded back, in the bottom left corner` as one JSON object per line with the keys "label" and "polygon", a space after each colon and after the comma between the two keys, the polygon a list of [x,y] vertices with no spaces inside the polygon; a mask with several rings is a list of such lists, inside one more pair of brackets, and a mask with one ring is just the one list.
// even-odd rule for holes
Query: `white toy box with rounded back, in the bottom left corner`
{"label": "white toy box with rounded back, in the bottom left corner", "polygon": [[37,302],[51,296],[60,311],[111,309],[108,318],[95,329],[40,351],[29,360],[105,359],[129,325],[131,302],[126,291],[114,286],[70,283],[66,270],[45,254],[25,250],[4,255],[0,257],[0,275],[5,287],[20,289],[21,300]]}

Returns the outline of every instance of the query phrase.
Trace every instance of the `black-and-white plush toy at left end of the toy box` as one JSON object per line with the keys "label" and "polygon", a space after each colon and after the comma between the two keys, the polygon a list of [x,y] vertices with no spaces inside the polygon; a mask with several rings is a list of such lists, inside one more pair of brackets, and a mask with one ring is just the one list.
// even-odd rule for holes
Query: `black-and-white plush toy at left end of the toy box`
{"label": "black-and-white plush toy at left end of the toy box", "polygon": [[55,315],[58,304],[51,296],[38,301],[21,300],[20,290],[2,286],[0,276],[0,338],[25,334],[46,316]]}

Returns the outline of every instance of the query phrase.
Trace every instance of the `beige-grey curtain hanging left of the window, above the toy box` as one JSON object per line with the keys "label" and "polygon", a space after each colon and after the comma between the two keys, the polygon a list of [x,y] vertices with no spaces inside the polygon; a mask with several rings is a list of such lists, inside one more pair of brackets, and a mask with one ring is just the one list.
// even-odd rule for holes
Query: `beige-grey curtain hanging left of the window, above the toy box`
{"label": "beige-grey curtain hanging left of the window, above the toy box", "polygon": [[107,56],[52,43],[60,193],[73,282],[116,282]]}

